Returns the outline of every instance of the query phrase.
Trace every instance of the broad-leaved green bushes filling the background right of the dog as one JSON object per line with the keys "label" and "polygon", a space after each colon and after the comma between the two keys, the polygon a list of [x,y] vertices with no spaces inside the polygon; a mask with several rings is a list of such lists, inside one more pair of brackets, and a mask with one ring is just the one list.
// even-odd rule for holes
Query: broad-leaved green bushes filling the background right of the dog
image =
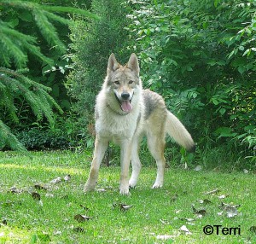
{"label": "broad-leaved green bushes filling the background right of the dog", "polygon": [[254,1],[132,1],[144,86],[194,131],[201,145],[254,154]]}

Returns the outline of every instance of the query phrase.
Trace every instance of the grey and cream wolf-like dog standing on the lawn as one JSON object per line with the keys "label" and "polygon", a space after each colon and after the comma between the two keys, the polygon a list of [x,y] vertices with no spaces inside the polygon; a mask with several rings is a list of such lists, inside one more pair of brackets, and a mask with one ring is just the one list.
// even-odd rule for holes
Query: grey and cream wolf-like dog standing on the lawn
{"label": "grey and cream wolf-like dog standing on the lawn", "polygon": [[[95,189],[99,168],[110,141],[120,146],[121,195],[129,195],[129,189],[137,185],[142,167],[138,148],[144,135],[157,165],[153,189],[162,187],[164,182],[166,133],[189,152],[195,151],[195,142],[177,117],[166,109],[162,96],[143,90],[139,72],[137,55],[131,54],[125,66],[120,65],[113,54],[110,55],[107,77],[96,96],[96,141],[84,192]],[[132,172],[129,180],[130,162]]]}

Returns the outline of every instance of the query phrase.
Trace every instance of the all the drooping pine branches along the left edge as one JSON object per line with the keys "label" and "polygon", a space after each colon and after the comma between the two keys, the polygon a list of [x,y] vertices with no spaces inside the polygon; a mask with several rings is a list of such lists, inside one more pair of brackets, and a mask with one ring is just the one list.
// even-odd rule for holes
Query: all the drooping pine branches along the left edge
{"label": "all the drooping pine branches along the left edge", "polygon": [[19,123],[18,107],[15,99],[22,97],[32,108],[32,113],[37,119],[48,119],[49,124],[54,124],[55,108],[62,113],[61,107],[49,96],[50,88],[27,78],[20,71],[12,69],[26,69],[29,55],[38,57],[39,60],[54,66],[54,61],[45,56],[38,44],[41,40],[15,29],[10,22],[4,22],[1,17],[9,15],[12,11],[25,10],[26,18],[34,20],[38,31],[49,45],[49,49],[55,48],[58,55],[66,53],[66,45],[61,41],[53,23],[62,25],[72,24],[72,20],[66,19],[55,13],[71,13],[84,15],[87,18],[97,18],[84,9],[52,6],[29,1],[2,0],[0,3],[0,142],[14,150],[24,151],[26,148],[17,140],[11,129],[4,124],[8,119]]}

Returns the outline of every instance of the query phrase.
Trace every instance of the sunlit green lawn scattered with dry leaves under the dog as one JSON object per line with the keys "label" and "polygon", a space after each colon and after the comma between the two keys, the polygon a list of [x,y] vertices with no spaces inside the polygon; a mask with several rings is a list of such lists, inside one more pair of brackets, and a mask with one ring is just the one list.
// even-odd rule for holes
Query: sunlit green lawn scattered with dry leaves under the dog
{"label": "sunlit green lawn scattered with dry leaves under the dog", "polygon": [[[256,178],[243,172],[166,169],[163,189],[150,189],[154,166],[143,167],[131,196],[119,195],[119,167],[102,166],[97,189],[84,195],[83,186],[90,169],[90,154],[70,152],[32,153],[32,159],[17,153],[0,153],[0,243],[255,243]],[[70,181],[49,183],[71,175]],[[47,190],[34,189],[41,184]],[[15,186],[20,193],[10,193]],[[206,195],[219,189],[218,194]],[[41,196],[41,203],[31,193]],[[219,195],[228,195],[223,200]],[[203,205],[199,200],[210,200]],[[241,205],[238,215],[218,215],[221,201]],[[113,206],[113,203],[115,203]],[[122,211],[119,204],[132,205]],[[206,209],[198,218],[192,210]],[[82,206],[88,207],[85,210]],[[77,214],[91,217],[84,223]],[[185,218],[193,218],[187,221]],[[7,224],[3,224],[3,220]],[[241,228],[241,235],[205,235],[207,224]],[[191,235],[179,229],[186,225]],[[76,228],[84,229],[76,232]],[[157,235],[172,235],[166,241]]]}

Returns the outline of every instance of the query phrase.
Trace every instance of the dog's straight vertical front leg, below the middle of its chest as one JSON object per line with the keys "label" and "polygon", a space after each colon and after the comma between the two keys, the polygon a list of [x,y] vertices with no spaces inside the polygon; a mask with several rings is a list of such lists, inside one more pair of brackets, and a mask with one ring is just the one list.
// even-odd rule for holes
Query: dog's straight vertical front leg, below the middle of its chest
{"label": "dog's straight vertical front leg, below the middle of its chest", "polygon": [[131,140],[121,144],[120,194],[129,195],[129,166],[131,162]]}

